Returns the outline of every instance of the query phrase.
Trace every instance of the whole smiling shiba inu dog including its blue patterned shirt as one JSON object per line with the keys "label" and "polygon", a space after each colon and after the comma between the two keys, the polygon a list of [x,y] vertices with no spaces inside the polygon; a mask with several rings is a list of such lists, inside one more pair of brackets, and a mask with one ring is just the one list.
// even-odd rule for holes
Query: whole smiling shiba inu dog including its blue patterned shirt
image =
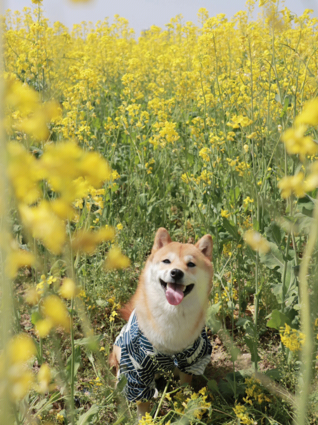
{"label": "whole smiling shiba inu dog including its blue patterned shirt", "polygon": [[127,379],[124,394],[137,416],[157,397],[155,374],[179,372],[182,383],[204,372],[212,346],[204,329],[213,268],[211,235],[195,244],[172,242],[161,227],[137,290],[122,310],[128,323],[115,340],[109,364]]}

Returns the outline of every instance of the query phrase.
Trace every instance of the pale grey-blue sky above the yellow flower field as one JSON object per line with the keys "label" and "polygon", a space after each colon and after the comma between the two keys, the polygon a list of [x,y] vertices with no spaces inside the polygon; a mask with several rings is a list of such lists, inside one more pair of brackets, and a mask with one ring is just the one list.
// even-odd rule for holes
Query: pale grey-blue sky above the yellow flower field
{"label": "pale grey-blue sky above the yellow flower field", "polygon": [[[165,28],[165,24],[177,14],[183,15],[184,23],[192,21],[197,24],[197,12],[201,7],[209,11],[209,16],[225,13],[228,18],[239,10],[245,10],[245,0],[92,0],[87,3],[43,0],[42,4],[51,23],[60,21],[72,28],[74,23],[91,21],[95,24],[105,17],[109,17],[111,23],[114,15],[119,14],[128,19],[137,36],[151,25]],[[314,9],[314,16],[318,17],[318,0],[286,0],[285,5],[297,15],[306,8]],[[8,8],[11,11],[22,10],[24,6],[34,7],[31,0],[0,0],[2,13]]]}

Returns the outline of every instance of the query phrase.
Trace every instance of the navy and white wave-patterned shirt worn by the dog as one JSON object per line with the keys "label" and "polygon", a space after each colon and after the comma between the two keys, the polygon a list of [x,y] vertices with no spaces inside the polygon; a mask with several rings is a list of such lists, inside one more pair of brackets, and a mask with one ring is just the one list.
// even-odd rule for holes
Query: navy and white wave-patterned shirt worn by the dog
{"label": "navy and white wave-patterned shirt worn by the dog", "polygon": [[149,400],[155,394],[155,374],[178,368],[189,375],[201,375],[210,361],[212,346],[205,329],[192,346],[169,356],[154,348],[140,331],[135,310],[115,340],[121,348],[119,377],[127,379],[123,389],[128,401]]}

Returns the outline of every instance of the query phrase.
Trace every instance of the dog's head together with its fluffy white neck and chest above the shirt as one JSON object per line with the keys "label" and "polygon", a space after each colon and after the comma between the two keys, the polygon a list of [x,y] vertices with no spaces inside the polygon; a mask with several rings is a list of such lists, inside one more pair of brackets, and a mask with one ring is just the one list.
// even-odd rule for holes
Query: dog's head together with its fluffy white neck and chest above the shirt
{"label": "dog's head together with its fluffy white neck and chest above the shirt", "polygon": [[172,242],[161,227],[139,278],[133,307],[139,328],[165,354],[192,344],[204,326],[213,268],[212,238],[195,245]]}

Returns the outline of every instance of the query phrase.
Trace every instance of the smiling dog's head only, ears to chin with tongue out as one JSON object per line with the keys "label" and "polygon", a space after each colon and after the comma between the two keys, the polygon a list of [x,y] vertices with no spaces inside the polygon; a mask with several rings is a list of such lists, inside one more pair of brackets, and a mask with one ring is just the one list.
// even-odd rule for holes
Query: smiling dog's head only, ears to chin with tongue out
{"label": "smiling dog's head only, ears to chin with tongue out", "polygon": [[166,229],[160,228],[148,264],[151,285],[158,300],[172,306],[193,299],[198,304],[207,300],[211,290],[213,269],[211,264],[212,238],[205,235],[197,244],[171,242]]}

